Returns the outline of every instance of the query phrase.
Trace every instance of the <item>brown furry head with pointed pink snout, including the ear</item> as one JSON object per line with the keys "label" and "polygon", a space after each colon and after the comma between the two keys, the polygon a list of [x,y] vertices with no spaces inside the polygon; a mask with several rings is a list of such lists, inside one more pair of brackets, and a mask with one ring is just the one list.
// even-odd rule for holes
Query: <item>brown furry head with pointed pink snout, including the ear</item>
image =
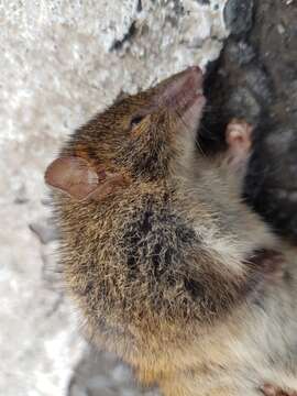
{"label": "brown furry head with pointed pink snout, including the ear", "polygon": [[79,200],[100,200],[131,179],[165,179],[194,150],[204,105],[198,67],[127,97],[74,134],[45,179]]}

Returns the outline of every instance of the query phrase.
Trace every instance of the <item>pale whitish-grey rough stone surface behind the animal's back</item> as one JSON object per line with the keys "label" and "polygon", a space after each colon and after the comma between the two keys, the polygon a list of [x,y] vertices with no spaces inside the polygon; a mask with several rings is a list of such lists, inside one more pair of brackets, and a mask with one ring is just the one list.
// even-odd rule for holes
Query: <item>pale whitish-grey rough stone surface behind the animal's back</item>
{"label": "pale whitish-grey rough stone surface behind the animal's back", "polygon": [[215,59],[227,35],[223,4],[0,3],[1,395],[140,394],[114,358],[98,354],[96,364],[89,359],[54,272],[43,173],[62,141],[121,90],[134,92]]}

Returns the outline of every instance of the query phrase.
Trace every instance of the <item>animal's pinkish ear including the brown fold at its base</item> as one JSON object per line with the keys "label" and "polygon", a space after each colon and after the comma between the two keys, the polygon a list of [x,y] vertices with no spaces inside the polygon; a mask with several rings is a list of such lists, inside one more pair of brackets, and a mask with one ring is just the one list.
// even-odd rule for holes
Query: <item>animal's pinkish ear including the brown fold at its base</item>
{"label": "animal's pinkish ear including the brown fold at its base", "polygon": [[77,200],[101,200],[127,185],[123,175],[96,169],[88,161],[77,156],[55,160],[45,172],[45,182]]}

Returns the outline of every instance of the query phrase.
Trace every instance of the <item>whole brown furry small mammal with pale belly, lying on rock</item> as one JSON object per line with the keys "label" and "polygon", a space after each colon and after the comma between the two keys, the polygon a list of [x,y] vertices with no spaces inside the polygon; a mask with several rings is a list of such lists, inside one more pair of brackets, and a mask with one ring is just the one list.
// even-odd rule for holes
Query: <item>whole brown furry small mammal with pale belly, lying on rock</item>
{"label": "whole brown furry small mammal with pale belly, lying on rock", "polygon": [[295,252],[241,198],[251,127],[197,150],[205,102],[190,67],[65,143],[45,175],[65,282],[91,341],[165,396],[296,395]]}

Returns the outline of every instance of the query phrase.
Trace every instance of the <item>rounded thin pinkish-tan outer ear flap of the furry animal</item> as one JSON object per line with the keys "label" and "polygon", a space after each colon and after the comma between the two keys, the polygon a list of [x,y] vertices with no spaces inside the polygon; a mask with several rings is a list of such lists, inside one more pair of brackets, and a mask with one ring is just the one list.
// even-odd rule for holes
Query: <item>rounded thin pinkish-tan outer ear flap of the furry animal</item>
{"label": "rounded thin pinkish-tan outer ear flap of the furry animal", "polygon": [[65,156],[55,160],[47,167],[45,183],[81,200],[98,187],[100,176],[105,178],[105,174],[98,174],[88,161],[76,156]]}

